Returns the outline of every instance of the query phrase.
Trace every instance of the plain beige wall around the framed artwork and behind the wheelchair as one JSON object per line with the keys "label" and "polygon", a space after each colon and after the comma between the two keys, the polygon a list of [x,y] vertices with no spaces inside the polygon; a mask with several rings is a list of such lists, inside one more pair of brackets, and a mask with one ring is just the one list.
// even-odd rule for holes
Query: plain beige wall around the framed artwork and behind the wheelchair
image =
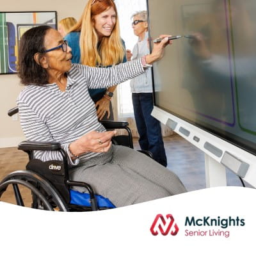
{"label": "plain beige wall around the framed artwork and behind the wheelchair", "polygon": [[[58,20],[68,16],[79,19],[86,0],[0,0],[1,12],[26,12],[26,11],[57,11]],[[19,120],[14,121],[7,115],[10,108],[16,106],[16,98],[23,86],[19,83],[17,75],[0,75],[0,148],[16,147],[24,140]]]}

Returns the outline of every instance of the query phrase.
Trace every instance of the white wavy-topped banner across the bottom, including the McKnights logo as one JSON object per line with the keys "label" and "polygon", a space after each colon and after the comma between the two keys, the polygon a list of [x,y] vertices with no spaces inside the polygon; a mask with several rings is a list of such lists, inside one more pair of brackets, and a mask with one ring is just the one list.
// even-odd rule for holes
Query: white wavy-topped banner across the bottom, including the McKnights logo
{"label": "white wavy-topped banner across the bottom, including the McKnights logo", "polygon": [[0,252],[254,255],[255,198],[255,189],[219,187],[97,212],[49,212],[0,202]]}

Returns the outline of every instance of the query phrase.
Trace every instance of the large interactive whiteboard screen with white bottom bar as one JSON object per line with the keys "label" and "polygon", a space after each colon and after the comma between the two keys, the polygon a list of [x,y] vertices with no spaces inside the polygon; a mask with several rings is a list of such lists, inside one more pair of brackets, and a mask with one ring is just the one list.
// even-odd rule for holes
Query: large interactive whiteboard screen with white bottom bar
{"label": "large interactive whiteboard screen with white bottom bar", "polygon": [[148,0],[150,37],[182,36],[154,64],[152,115],[244,179],[256,163],[255,13],[253,0]]}

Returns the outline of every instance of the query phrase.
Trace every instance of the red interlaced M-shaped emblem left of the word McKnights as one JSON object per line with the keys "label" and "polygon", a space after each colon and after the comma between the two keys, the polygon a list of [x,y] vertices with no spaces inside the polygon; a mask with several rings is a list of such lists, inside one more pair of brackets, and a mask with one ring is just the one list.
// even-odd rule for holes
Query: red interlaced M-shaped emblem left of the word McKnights
{"label": "red interlaced M-shaped emblem left of the word McKnights", "polygon": [[[157,230],[160,230],[161,234],[163,236],[166,236],[169,234],[173,223],[174,223],[174,218],[173,218],[172,214],[167,214],[166,220],[164,219],[164,216],[162,214],[157,214],[154,222],[152,223],[152,226],[150,227],[150,231],[153,236],[157,236],[158,235]],[[172,236],[176,236],[179,231],[179,227],[177,226],[177,224],[174,224],[173,227],[175,228],[175,230],[172,230],[170,232],[170,234]]]}

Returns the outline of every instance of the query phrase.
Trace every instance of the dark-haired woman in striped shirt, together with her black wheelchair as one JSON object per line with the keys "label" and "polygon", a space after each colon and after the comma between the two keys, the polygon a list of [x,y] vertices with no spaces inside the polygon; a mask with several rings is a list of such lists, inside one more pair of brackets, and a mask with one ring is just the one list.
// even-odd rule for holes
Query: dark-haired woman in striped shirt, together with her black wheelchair
{"label": "dark-haired woman in striped shirt, together with her black wheelchair", "polygon": [[177,175],[154,159],[113,145],[116,131],[106,131],[100,124],[88,94],[88,88],[109,87],[140,76],[163,57],[170,43],[165,38],[139,60],[95,68],[72,64],[71,48],[55,29],[39,26],[26,31],[18,58],[18,74],[26,88],[17,104],[28,140],[19,148],[28,152],[30,161],[27,171],[11,173],[1,182],[0,195],[13,184],[17,201],[22,201],[17,184],[25,183],[33,185],[29,189],[35,208],[79,211],[75,205],[83,205],[83,211],[88,206],[93,210],[122,207],[186,192]]}

